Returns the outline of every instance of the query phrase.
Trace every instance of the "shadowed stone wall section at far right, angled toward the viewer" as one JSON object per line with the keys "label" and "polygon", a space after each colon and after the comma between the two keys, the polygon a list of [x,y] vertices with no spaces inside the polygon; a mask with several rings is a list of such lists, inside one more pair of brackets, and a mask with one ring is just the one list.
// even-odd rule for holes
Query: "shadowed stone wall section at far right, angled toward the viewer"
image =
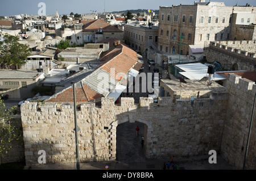
{"label": "shadowed stone wall section at far right, angled toward the viewer", "polygon": [[[256,85],[253,81],[229,74],[228,113],[224,126],[221,154],[238,169],[242,169],[247,136],[253,110]],[[250,144],[246,159],[246,169],[256,169],[256,111],[251,128]]]}

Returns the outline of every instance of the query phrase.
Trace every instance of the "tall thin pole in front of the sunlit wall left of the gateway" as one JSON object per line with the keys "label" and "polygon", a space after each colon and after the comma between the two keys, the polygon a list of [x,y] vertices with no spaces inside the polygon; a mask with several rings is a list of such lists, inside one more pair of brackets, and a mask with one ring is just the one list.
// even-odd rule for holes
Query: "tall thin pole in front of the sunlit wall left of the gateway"
{"label": "tall thin pole in front of the sunlit wall left of the gateway", "polygon": [[71,82],[73,85],[73,96],[74,96],[74,117],[75,117],[75,137],[76,137],[76,169],[80,170],[80,158],[79,158],[79,143],[78,143],[78,136],[77,132],[78,126],[77,126],[77,116],[76,116],[76,91],[75,91],[75,82]]}

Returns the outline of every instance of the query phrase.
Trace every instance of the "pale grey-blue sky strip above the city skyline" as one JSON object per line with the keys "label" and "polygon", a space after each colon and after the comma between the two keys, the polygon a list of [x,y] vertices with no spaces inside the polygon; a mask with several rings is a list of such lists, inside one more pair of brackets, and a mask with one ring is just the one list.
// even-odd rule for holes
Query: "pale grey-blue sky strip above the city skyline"
{"label": "pale grey-blue sky strip above the city skyline", "polygon": [[[121,11],[121,10],[134,10],[134,9],[153,9],[159,10],[159,6],[172,6],[179,5],[191,5],[195,0],[105,0],[106,12]],[[197,0],[199,1],[199,0]],[[207,2],[209,0],[206,0]],[[255,0],[212,0],[225,2],[226,6],[250,5],[256,6]],[[97,10],[97,12],[104,12],[104,0],[0,0],[0,16],[10,16],[18,14],[37,15],[38,4],[40,2],[46,3],[46,14],[53,15],[56,10],[59,14],[87,14],[91,10]]]}

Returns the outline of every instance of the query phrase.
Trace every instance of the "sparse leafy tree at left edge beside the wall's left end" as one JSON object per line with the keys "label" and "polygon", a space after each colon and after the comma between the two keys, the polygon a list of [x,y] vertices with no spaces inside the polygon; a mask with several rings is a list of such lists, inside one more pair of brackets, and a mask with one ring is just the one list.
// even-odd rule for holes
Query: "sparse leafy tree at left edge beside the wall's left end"
{"label": "sparse leafy tree at left edge beside the wall's left end", "polygon": [[21,138],[19,129],[11,123],[16,108],[16,106],[7,108],[3,100],[0,99],[0,165],[3,156],[11,149],[11,141]]}

